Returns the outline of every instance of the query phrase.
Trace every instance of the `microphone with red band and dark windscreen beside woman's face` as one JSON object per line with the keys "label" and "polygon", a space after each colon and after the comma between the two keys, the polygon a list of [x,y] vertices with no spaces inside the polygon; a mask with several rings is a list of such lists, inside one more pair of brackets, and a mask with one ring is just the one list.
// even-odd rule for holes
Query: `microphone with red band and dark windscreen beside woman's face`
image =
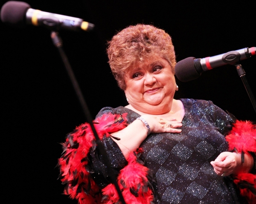
{"label": "microphone with red band and dark windscreen beside woman's face", "polygon": [[175,75],[182,82],[188,82],[200,77],[203,71],[208,71],[215,67],[223,65],[235,65],[243,59],[247,59],[256,54],[256,47],[243,48],[236,51],[230,51],[213,57],[199,58],[188,57],[177,62],[175,66]]}

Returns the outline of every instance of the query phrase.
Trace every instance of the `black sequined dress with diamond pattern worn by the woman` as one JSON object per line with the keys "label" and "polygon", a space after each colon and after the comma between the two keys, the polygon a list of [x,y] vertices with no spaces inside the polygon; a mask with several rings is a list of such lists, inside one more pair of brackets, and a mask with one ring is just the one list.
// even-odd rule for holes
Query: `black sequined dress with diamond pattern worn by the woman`
{"label": "black sequined dress with diamond pattern worn by the woman", "polygon": [[[180,99],[185,108],[181,133],[150,134],[141,144],[141,159],[154,176],[155,204],[233,204],[239,203],[231,178],[217,176],[210,161],[228,145],[224,131],[233,122],[210,101]],[[124,107],[103,108],[103,113],[128,113],[128,124],[140,115]],[[127,164],[118,145],[103,138],[116,175]],[[108,170],[98,150],[90,152],[91,174],[99,187],[109,184]]]}

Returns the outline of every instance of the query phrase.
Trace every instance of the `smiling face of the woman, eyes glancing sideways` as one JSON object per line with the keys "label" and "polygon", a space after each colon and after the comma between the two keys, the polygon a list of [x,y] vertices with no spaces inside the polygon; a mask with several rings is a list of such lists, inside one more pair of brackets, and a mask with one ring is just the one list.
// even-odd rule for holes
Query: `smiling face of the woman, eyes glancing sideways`
{"label": "smiling face of the woman, eyes glancing sideways", "polygon": [[163,114],[171,110],[175,77],[166,59],[154,57],[125,75],[129,104],[144,113]]}

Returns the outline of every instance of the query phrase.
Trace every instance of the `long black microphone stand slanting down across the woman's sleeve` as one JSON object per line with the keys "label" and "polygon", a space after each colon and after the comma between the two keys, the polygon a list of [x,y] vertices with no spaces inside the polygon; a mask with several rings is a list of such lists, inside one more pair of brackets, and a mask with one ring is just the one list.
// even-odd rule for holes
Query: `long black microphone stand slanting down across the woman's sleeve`
{"label": "long black microphone stand slanting down across the woman's sleeve", "polygon": [[119,195],[119,200],[121,201],[122,204],[125,204],[125,200],[124,200],[124,198],[122,196],[121,190],[120,190],[120,188],[119,188],[119,186],[117,184],[117,181],[116,181],[116,176],[114,176],[113,171],[111,170],[111,165],[110,165],[110,162],[109,162],[108,157],[107,157],[107,152],[104,149],[104,146],[103,146],[101,140],[99,139],[99,136],[98,136],[98,134],[96,132],[96,129],[95,129],[94,125],[93,125],[93,119],[91,117],[90,111],[89,111],[88,106],[87,106],[87,104],[86,104],[86,102],[84,100],[84,96],[83,96],[83,94],[81,92],[81,89],[79,87],[79,84],[78,84],[78,82],[76,80],[75,74],[73,73],[71,65],[70,65],[70,63],[69,63],[69,61],[67,59],[67,55],[65,54],[65,52],[64,52],[64,50],[62,48],[63,47],[62,46],[62,40],[58,36],[58,32],[55,32],[55,31],[51,32],[51,38],[52,38],[52,42],[55,45],[55,47],[58,48],[58,51],[59,51],[59,53],[61,55],[61,59],[62,59],[64,65],[65,65],[67,73],[68,73],[68,75],[69,75],[69,77],[71,79],[73,87],[74,87],[74,89],[76,91],[76,94],[77,94],[77,96],[79,98],[79,102],[80,102],[80,104],[81,104],[81,106],[83,108],[84,115],[85,115],[87,121],[89,122],[90,127],[93,130],[93,134],[94,134],[95,139],[96,139],[96,144],[99,147],[99,152],[102,155],[103,161],[105,162],[106,167],[110,170],[109,171],[109,173],[110,173],[109,176],[111,178],[112,183],[116,187],[116,191],[117,191],[117,193]]}

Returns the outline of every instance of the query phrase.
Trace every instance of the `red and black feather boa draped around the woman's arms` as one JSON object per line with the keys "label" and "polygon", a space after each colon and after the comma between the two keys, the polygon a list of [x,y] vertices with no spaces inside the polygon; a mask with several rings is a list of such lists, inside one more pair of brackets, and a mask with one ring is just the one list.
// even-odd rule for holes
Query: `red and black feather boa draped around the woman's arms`
{"label": "red and black feather boa draped around the woman's arms", "polygon": [[[104,114],[94,121],[96,131],[102,139],[111,133],[122,130],[127,126],[126,115]],[[226,136],[229,149],[236,149],[239,153],[256,152],[256,126],[250,122],[237,121],[231,132]],[[61,170],[61,181],[67,184],[64,194],[76,198],[79,204],[115,204],[119,196],[113,184],[103,189],[95,184],[90,177],[87,154],[95,148],[95,139],[89,124],[84,123],[76,127],[67,135],[63,144],[64,153],[58,161]],[[151,186],[150,170],[139,159],[142,149],[130,154],[128,164],[119,173],[118,185],[125,202],[128,204],[151,204],[154,200]],[[239,173],[234,176],[234,183],[240,193],[250,204],[256,203],[256,175]]]}

